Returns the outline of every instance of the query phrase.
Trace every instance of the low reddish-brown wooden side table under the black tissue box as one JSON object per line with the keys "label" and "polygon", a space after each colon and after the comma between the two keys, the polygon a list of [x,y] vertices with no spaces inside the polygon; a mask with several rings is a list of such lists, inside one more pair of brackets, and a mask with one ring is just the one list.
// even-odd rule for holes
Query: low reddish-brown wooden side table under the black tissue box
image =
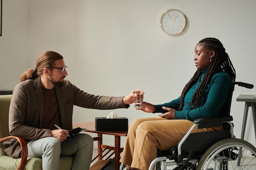
{"label": "low reddish-brown wooden side table under the black tissue box", "polygon": [[[98,154],[97,157],[98,159],[101,159],[101,151],[102,148],[111,148],[112,150],[115,150],[115,170],[119,170],[120,166],[120,154],[123,152],[124,148],[120,148],[120,138],[121,136],[127,136],[128,131],[97,131],[95,130],[95,122],[85,122],[85,123],[78,123],[78,124],[73,124],[73,128],[86,128],[85,132],[91,132],[91,133],[97,133],[97,137],[94,137],[94,141],[98,141]],[[102,145],[102,135],[114,135],[115,136],[115,147],[111,146],[106,146]],[[94,159],[96,159],[95,157]],[[93,160],[94,160],[93,159]]]}

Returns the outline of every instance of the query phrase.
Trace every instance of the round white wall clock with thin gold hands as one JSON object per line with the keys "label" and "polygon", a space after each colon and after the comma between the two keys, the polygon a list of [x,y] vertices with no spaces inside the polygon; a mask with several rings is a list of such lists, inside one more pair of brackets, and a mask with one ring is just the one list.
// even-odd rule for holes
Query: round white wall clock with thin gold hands
{"label": "round white wall clock with thin gold hands", "polygon": [[177,35],[185,29],[186,17],[182,12],[170,9],[162,15],[160,25],[167,34]]}

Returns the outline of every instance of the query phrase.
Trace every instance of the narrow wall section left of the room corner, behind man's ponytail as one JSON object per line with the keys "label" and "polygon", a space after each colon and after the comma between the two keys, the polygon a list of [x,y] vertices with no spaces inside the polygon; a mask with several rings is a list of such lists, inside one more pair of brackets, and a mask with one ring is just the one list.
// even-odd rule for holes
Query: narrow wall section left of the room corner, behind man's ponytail
{"label": "narrow wall section left of the room corner, behind man's ponytail", "polygon": [[12,90],[29,68],[29,1],[2,1],[0,90]]}

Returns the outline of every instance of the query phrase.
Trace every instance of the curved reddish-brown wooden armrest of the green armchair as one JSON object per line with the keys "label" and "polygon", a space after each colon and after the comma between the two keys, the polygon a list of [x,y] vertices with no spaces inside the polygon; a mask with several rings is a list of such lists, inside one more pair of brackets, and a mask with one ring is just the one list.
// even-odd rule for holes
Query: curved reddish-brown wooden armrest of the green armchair
{"label": "curved reddish-brown wooden armrest of the green armchair", "polygon": [[4,138],[0,139],[0,142],[4,142],[4,141],[7,141],[8,139],[12,139],[12,138],[17,139],[20,143],[22,155],[21,155],[21,160],[20,160],[20,165],[18,167],[18,170],[24,170],[24,167],[27,162],[27,154],[28,154],[27,143],[26,143],[25,139],[22,137],[17,137],[17,136],[8,136],[8,137],[4,137]]}

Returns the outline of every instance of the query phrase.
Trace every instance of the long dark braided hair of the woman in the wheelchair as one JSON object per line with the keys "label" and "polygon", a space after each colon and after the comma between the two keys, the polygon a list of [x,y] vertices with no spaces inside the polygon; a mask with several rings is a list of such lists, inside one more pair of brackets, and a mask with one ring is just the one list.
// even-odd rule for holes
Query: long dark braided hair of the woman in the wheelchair
{"label": "long dark braided hair of the woman in the wheelchair", "polygon": [[[207,85],[210,83],[217,67],[221,66],[221,68],[229,74],[233,82],[235,82],[235,79],[236,79],[235,68],[229,59],[229,55],[225,52],[225,48],[223,47],[222,43],[218,39],[204,38],[203,40],[200,40],[198,44],[201,44],[204,48],[209,49],[209,51],[214,50],[215,54],[209,65],[207,72],[205,73],[204,79],[202,79],[202,82],[196,89],[191,99],[189,106],[193,105],[193,109],[197,108],[200,98],[201,98],[201,103],[203,103],[204,92],[206,91]],[[202,71],[197,70],[193,75],[193,77],[191,78],[191,80],[184,87],[181,94],[180,107],[178,110],[183,109],[184,97],[186,93],[193,86],[193,84],[195,84],[198,81],[201,74],[202,74]]]}

